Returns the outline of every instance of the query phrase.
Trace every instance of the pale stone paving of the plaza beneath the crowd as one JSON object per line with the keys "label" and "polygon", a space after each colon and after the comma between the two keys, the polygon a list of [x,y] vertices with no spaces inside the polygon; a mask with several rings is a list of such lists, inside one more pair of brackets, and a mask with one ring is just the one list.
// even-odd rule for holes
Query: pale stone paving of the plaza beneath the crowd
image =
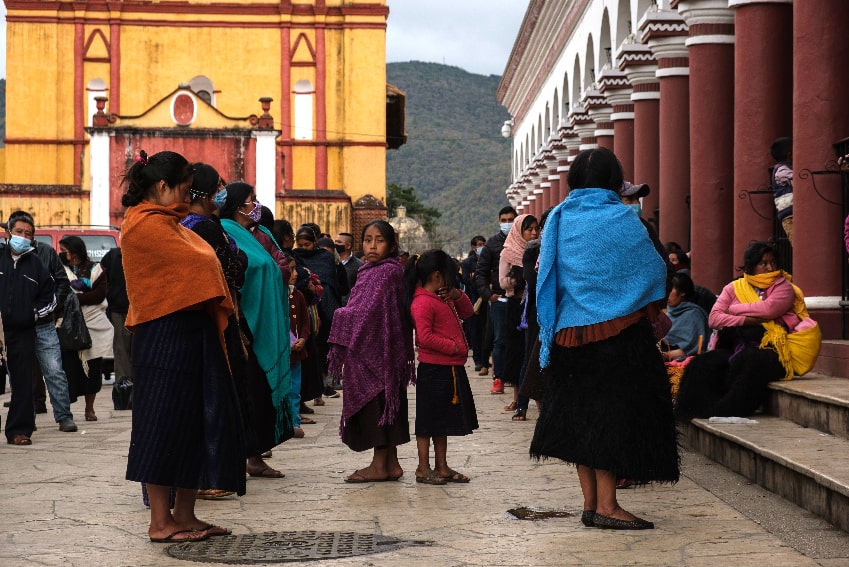
{"label": "pale stone paving of the plaza beneath the crowd", "polygon": [[[200,501],[198,515],[235,534],[350,531],[431,542],[321,563],[339,567],[849,565],[849,553],[842,551],[816,559],[803,555],[715,496],[716,490],[693,482],[688,468],[703,468],[703,460],[689,454],[677,485],[620,494],[627,509],[655,522],[655,530],[585,528],[578,520],[581,493],[574,469],[528,458],[537,415],[533,404],[527,422],[511,422],[502,409],[511,390],[493,396],[489,385],[488,378],[472,377],[480,429],[449,439],[449,464],[472,477],[469,484],[416,484],[415,443],[399,448],[401,481],[343,483],[345,475],[369,462],[370,453],[353,453],[339,441],[341,399],[332,399],[315,408],[312,417],[319,423],[304,426],[306,438],[274,451],[270,463],[286,478],[249,478],[246,496]],[[148,511],[139,486],[124,480],[130,412],[113,411],[110,393],[105,386],[98,396],[97,422],[82,420],[81,402],[73,406],[80,417],[78,433],[61,433],[51,414],[39,415],[32,446],[0,445],[0,565],[201,565],[173,559],[166,546],[148,541]],[[411,419],[414,400],[411,389]],[[576,516],[513,519],[507,511],[520,506]],[[796,521],[787,518],[791,526]],[[849,549],[843,532],[829,537]]]}

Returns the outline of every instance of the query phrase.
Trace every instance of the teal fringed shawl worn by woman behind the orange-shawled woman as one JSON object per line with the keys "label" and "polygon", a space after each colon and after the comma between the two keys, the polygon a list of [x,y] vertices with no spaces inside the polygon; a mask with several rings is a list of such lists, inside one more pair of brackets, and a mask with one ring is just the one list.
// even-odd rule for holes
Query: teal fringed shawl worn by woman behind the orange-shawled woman
{"label": "teal fringed shawl worn by woman behind the orange-shawled woman", "polygon": [[274,432],[276,438],[282,441],[283,432],[288,429],[284,421],[291,419],[291,413],[286,411],[292,380],[289,367],[289,290],[284,288],[277,262],[249,230],[230,219],[221,219],[221,225],[248,257],[239,306],[253,334],[251,348],[271,388],[271,401],[277,418]]}

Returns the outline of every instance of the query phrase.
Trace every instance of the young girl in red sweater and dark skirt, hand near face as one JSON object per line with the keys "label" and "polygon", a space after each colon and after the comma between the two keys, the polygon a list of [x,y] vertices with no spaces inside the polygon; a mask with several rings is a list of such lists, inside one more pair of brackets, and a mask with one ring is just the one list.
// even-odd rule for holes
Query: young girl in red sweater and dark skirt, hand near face
{"label": "young girl in red sweater and dark skirt, hand near face", "polygon": [[[405,270],[410,316],[419,349],[416,378],[416,482],[469,482],[448,466],[449,435],[468,435],[478,428],[466,359],[469,345],[463,319],[474,313],[468,296],[457,289],[457,264],[442,250],[410,258]],[[433,439],[434,467],[430,467]]]}

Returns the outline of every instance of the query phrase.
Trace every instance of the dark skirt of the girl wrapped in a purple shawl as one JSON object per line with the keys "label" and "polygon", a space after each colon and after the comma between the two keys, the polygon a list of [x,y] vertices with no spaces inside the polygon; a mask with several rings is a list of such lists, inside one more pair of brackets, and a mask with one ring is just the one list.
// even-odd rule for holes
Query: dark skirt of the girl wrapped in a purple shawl
{"label": "dark skirt of the girl wrapped in a purple shawl", "polygon": [[363,409],[351,416],[342,428],[342,442],[353,451],[368,451],[397,447],[410,442],[410,412],[407,408],[407,389],[401,390],[400,405],[393,423],[378,425],[383,409],[386,407],[386,395],[380,392],[363,406]]}

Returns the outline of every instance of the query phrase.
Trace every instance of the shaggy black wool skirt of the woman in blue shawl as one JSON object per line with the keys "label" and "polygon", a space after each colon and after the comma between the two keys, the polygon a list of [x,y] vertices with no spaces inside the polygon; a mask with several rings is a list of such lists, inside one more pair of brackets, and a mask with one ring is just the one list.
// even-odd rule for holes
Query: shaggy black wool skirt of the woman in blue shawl
{"label": "shaggy black wool skirt of the woman in blue shawl", "polygon": [[552,346],[530,453],[636,483],[676,482],[672,396],[648,321],[575,348]]}

